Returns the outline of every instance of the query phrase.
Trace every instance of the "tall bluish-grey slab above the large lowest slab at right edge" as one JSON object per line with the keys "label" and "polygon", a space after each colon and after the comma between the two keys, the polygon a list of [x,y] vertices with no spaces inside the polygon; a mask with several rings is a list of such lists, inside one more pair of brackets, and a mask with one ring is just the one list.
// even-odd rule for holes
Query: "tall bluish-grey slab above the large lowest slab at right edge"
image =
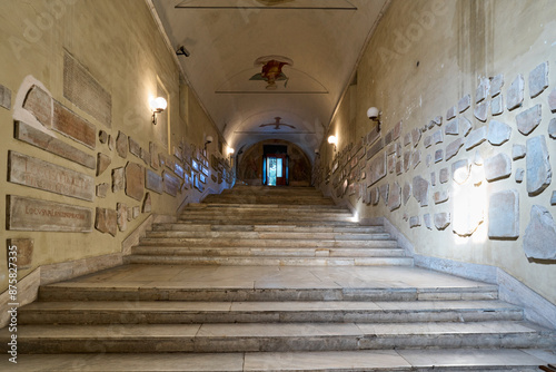
{"label": "tall bluish-grey slab above the large lowest slab at right edge", "polygon": [[528,138],[526,146],[527,193],[535,196],[550,185],[553,173],[545,136]]}

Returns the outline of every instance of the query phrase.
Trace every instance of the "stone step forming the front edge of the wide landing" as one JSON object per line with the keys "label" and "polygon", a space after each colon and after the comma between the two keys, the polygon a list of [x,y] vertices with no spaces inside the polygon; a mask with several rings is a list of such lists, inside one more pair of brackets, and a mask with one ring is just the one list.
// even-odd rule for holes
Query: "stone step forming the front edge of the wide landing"
{"label": "stone step forming the front edge of the wide landing", "polygon": [[[244,270],[244,268],[242,268]],[[308,267],[304,268],[305,271]],[[205,268],[203,272],[207,270]],[[284,286],[280,282],[258,285],[246,282],[245,285],[232,283],[206,284],[193,282],[175,284],[172,282],[89,283],[64,282],[43,285],[39,288],[41,301],[483,301],[497,300],[496,285],[460,287],[373,287],[359,283],[358,286],[339,287],[332,284],[299,283],[297,286]],[[305,284],[305,286],[304,286]]]}

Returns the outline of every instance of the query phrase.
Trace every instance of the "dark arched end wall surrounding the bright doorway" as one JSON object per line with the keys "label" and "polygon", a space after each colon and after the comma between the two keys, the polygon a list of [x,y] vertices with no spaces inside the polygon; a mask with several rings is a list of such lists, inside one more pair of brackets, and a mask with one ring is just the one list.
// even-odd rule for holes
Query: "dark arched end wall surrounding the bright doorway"
{"label": "dark arched end wall surrounding the bright doorway", "polygon": [[287,147],[289,186],[310,186],[311,164],[297,145],[287,140],[269,139],[257,143],[238,157],[238,178],[250,186],[262,185],[262,158],[265,145]]}

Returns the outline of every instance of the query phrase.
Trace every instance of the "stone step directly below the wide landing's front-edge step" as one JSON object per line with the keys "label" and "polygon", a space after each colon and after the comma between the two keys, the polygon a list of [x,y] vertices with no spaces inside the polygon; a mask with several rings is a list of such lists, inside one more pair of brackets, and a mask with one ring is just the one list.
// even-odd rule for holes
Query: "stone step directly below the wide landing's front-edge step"
{"label": "stone step directly below the wide landing's front-edge step", "polygon": [[27,324],[187,324],[187,323],[413,323],[520,321],[519,307],[500,301],[285,301],[36,302],[19,310]]}

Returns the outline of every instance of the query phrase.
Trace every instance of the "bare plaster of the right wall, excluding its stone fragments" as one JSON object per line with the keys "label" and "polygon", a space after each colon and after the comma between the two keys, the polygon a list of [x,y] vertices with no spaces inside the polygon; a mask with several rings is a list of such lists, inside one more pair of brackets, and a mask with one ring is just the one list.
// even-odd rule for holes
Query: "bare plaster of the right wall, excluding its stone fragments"
{"label": "bare plaster of the right wall, excluding its stone fragments", "polygon": [[[486,159],[498,153],[512,156],[513,144],[525,145],[526,139],[544,135],[550,156],[552,172],[556,170],[556,141],[548,137],[548,123],[555,117],[548,108],[547,97],[556,88],[556,2],[552,0],[393,0],[383,20],[376,29],[370,43],[357,69],[357,91],[347,92],[336,117],[332,119],[329,134],[339,138],[341,150],[349,143],[357,143],[371,128],[366,117],[368,107],[376,106],[383,110],[383,136],[398,121],[403,121],[403,137],[414,128],[421,128],[435,118],[443,116],[444,129],[446,111],[457,105],[465,95],[471,96],[471,107],[464,115],[474,124],[474,128],[488,125],[488,117],[483,124],[474,118],[475,90],[479,79],[504,74],[505,84],[502,89],[506,104],[507,89],[518,74],[525,78],[525,100],[522,108],[494,117],[513,127],[508,143],[495,147],[488,141],[466,151],[461,148],[449,161],[440,161],[427,167],[426,157],[434,156],[434,150],[446,149],[456,137],[444,136],[444,143],[426,149],[424,138],[433,131],[423,134],[418,149],[423,153],[421,164],[400,176],[389,174],[375,186],[394,182],[404,186],[416,175],[430,179],[436,173],[437,186],[429,192],[429,206],[420,207],[411,197],[407,205],[390,212],[383,200],[377,206],[367,206],[355,196],[350,203],[356,206],[361,217],[386,216],[415,245],[416,254],[449,258],[465,263],[498,266],[518,278],[527,286],[556,304],[556,263],[529,262],[523,249],[525,228],[529,223],[533,205],[545,206],[556,218],[556,207],[550,206],[550,196],[556,189],[550,186],[538,196],[529,197],[526,192],[526,179],[522,184],[515,180],[517,168],[526,168],[525,159],[513,161],[513,173],[507,179],[488,183],[484,180],[481,193],[485,203],[485,223],[470,237],[458,237],[451,225],[445,231],[428,231],[423,225],[423,215],[438,212],[453,212],[457,203],[454,182],[448,186],[439,185],[440,168],[450,167],[459,159],[471,163],[476,151]],[[528,75],[542,62],[549,62],[549,87],[536,98],[529,98]],[[354,99],[356,104],[354,105]],[[488,97],[490,99],[490,97]],[[529,136],[517,131],[516,115],[536,104],[543,105],[543,121]],[[355,110],[355,111],[354,111]],[[356,116],[355,123],[348,120]],[[348,127],[349,126],[349,127]],[[353,127],[351,127],[353,126]],[[324,166],[331,167],[330,147],[321,146]],[[408,147],[404,147],[407,150]],[[450,172],[451,174],[451,172]],[[451,178],[451,177],[450,177]],[[330,187],[328,185],[328,187]],[[433,193],[450,188],[453,195],[445,204],[435,206]],[[516,241],[495,241],[487,237],[488,197],[493,193],[517,189],[519,193],[519,237]],[[409,228],[406,217],[420,216],[421,226]],[[556,244],[547,242],[547,244]]]}

